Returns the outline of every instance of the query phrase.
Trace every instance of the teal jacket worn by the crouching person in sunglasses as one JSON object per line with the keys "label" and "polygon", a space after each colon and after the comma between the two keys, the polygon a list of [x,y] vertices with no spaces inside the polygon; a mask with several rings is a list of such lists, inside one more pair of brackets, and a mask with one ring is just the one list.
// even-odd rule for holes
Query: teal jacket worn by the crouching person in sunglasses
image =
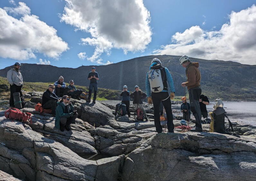
{"label": "teal jacket worn by the crouching person in sunglasses", "polygon": [[56,117],[55,117],[55,128],[59,129],[59,120],[60,117],[71,117],[73,111],[74,111],[74,106],[72,103],[69,103],[68,106],[68,112],[69,113],[64,113],[65,110],[65,105],[63,102],[57,102],[58,106],[56,107]]}

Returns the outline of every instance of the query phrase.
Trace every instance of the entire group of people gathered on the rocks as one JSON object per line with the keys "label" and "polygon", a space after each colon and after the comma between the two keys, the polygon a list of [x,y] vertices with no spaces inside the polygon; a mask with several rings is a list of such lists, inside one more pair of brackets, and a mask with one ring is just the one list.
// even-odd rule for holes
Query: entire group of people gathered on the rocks
{"label": "entire group of people gathered on the rocks", "polygon": [[[207,116],[206,106],[209,104],[207,97],[201,95],[200,81],[201,74],[198,69],[199,63],[191,62],[189,57],[186,55],[180,57],[179,63],[181,66],[186,68],[187,82],[181,83],[182,87],[188,89],[189,94],[189,104],[186,103],[186,99],[182,98],[181,110],[184,113],[184,118],[188,120],[190,114],[195,116],[195,128],[191,131],[202,131],[201,126],[201,115]],[[7,73],[7,79],[10,83],[10,107],[14,107],[13,93],[21,92],[23,86],[22,74],[19,71],[21,67],[20,63],[15,63],[14,68],[9,70]],[[92,91],[94,90],[93,103],[96,101],[97,96],[97,81],[99,80],[99,75],[96,72],[96,68],[92,67],[92,71],[88,74],[88,80],[90,80],[89,85],[89,96],[87,102],[91,101]],[[168,92],[168,87],[170,89],[170,94]],[[145,119],[147,121],[147,114],[143,108],[142,100],[148,97],[148,103],[153,104],[154,107],[154,124],[156,126],[156,131],[158,133],[162,132],[162,126],[160,123],[160,112],[162,113],[163,108],[166,112],[167,117],[167,127],[168,132],[173,133],[173,115],[171,109],[171,99],[175,97],[175,88],[172,76],[166,67],[162,66],[161,61],[158,58],[154,58],[149,66],[149,72],[146,76],[146,93],[142,92],[139,86],[134,87],[133,93],[127,90],[127,86],[123,86],[123,91],[121,92],[122,102],[126,105],[127,114],[130,117],[131,113],[130,98],[133,99],[133,104],[135,109],[142,109]],[[74,107],[70,102],[70,98],[79,99],[79,95],[82,90],[77,90],[74,86],[74,81],[69,81],[69,86],[66,86],[64,78],[59,77],[59,80],[54,84],[50,84],[48,89],[43,93],[42,96],[42,107],[44,109],[51,109],[52,114],[56,114],[55,127],[59,128],[61,131],[64,129],[70,130],[70,124],[74,122],[77,117],[77,113],[74,111]],[[200,109],[200,104],[202,104]]]}

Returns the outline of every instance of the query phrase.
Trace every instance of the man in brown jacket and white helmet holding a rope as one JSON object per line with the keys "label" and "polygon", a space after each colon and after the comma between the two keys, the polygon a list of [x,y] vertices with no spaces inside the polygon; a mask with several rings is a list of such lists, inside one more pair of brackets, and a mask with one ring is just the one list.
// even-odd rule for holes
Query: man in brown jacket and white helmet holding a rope
{"label": "man in brown jacket and white helmet holding a rope", "polygon": [[188,89],[190,109],[196,119],[196,127],[190,131],[201,132],[201,110],[199,105],[199,99],[201,95],[201,73],[198,69],[198,62],[191,62],[189,57],[184,55],[179,59],[180,65],[186,68],[187,82],[182,82],[181,86]]}

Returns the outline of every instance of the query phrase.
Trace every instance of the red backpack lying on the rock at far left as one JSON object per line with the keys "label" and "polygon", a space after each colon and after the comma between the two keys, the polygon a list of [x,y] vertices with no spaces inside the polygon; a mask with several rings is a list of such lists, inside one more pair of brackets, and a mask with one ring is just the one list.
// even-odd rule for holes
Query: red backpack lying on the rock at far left
{"label": "red backpack lying on the rock at far left", "polygon": [[21,122],[26,122],[27,120],[30,121],[32,124],[31,113],[23,113],[17,108],[9,108],[5,111],[5,117],[7,119],[18,120]]}

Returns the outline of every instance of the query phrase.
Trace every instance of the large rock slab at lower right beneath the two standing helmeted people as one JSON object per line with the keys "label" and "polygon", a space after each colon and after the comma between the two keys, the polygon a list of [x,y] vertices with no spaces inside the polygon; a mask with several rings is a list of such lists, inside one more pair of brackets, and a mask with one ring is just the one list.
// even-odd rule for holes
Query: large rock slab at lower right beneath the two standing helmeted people
{"label": "large rock slab at lower right beneath the two standing helmeted people", "polygon": [[255,180],[256,140],[161,133],[130,153],[122,180]]}

